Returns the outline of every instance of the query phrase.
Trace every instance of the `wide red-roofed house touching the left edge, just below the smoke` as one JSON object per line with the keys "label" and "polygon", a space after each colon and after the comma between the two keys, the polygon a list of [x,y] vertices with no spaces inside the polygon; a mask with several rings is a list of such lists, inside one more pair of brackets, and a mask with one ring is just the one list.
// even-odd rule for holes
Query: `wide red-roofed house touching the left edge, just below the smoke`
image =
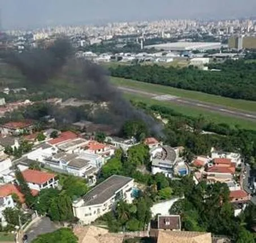
{"label": "wide red-roofed house touching the left edge, just below the smoke", "polygon": [[28,120],[24,122],[8,122],[0,126],[0,131],[5,135],[18,135],[23,132],[32,133],[33,125],[33,122]]}

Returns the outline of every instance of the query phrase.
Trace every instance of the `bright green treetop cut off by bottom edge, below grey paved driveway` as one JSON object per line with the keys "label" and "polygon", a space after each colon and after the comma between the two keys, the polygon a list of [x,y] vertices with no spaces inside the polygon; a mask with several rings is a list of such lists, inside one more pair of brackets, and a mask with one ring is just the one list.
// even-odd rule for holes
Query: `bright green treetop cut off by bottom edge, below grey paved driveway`
{"label": "bright green treetop cut off by bottom edge, below grey paved driveway", "polygon": [[46,233],[35,238],[32,243],[77,243],[78,238],[70,228],[60,228],[52,233]]}

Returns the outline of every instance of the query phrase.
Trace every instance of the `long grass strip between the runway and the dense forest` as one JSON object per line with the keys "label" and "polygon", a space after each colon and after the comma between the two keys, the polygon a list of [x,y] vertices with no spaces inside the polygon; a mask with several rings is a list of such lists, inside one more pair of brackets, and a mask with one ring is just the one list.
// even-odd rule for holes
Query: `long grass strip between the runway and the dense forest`
{"label": "long grass strip between the runway and the dense forest", "polygon": [[242,99],[232,99],[220,96],[214,96],[212,94],[206,94],[191,90],[177,89],[169,86],[163,86],[158,84],[143,83],[139,81],[122,79],[119,77],[111,77],[111,83],[114,85],[127,86],[130,88],[136,88],[145,90],[148,92],[159,93],[159,94],[171,94],[173,96],[180,96],[183,98],[196,99],[197,101],[209,102],[214,105],[223,105],[232,107],[238,110],[255,111],[255,101],[245,101]]}

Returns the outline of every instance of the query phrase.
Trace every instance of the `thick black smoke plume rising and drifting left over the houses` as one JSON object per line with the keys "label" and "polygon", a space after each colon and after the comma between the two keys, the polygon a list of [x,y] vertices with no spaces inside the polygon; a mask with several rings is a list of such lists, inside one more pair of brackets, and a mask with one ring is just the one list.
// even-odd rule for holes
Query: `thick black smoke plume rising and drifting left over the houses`
{"label": "thick black smoke plume rising and drifting left over the houses", "polygon": [[[122,93],[110,84],[103,68],[84,59],[73,59],[71,54],[71,45],[66,40],[58,40],[49,49],[34,49],[23,54],[9,53],[5,60],[18,68],[34,85],[46,83],[51,77],[62,72],[73,85],[81,87],[81,97],[94,102],[108,102],[107,111],[100,110],[93,116],[96,122],[112,123],[121,127],[126,120],[141,119],[151,132],[163,136],[162,125],[124,99]],[[71,119],[69,114],[63,115],[67,116],[63,119]]]}

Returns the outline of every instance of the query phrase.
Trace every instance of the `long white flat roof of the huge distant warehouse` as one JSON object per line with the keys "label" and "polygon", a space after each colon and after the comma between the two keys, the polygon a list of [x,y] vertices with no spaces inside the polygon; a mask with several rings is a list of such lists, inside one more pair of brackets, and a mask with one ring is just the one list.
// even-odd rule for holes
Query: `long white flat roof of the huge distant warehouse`
{"label": "long white flat roof of the huge distant warehouse", "polygon": [[149,45],[145,48],[155,48],[157,50],[173,50],[173,51],[185,51],[185,50],[197,50],[197,49],[218,49],[222,46],[220,42],[171,42],[166,44]]}

